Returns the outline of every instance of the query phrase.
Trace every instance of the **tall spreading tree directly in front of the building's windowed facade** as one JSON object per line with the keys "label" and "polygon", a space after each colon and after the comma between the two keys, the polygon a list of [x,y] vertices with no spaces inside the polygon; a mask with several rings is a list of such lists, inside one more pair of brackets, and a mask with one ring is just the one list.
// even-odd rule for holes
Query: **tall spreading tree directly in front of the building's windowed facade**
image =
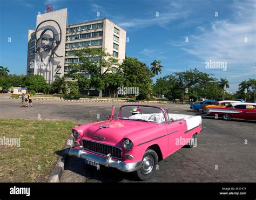
{"label": "tall spreading tree directly in front of the building's windowed facade", "polygon": [[[99,91],[99,98],[101,98],[102,90],[105,88],[103,79],[107,73],[112,71],[114,66],[119,65],[118,59],[114,58],[110,53],[105,52],[105,49],[89,47],[75,51],[75,55],[79,57],[79,63],[70,65],[71,70],[68,75],[73,80],[79,80],[80,76],[83,77],[85,74],[90,74],[90,86],[95,88],[96,91]],[[82,80],[85,83],[85,88],[89,81],[85,80],[84,77]]]}

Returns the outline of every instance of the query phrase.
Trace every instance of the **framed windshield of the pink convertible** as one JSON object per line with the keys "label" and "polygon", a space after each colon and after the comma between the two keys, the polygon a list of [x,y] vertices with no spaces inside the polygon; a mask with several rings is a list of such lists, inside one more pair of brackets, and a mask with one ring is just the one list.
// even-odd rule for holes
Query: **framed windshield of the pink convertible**
{"label": "framed windshield of the pink convertible", "polygon": [[160,108],[149,106],[123,106],[118,119],[164,123],[165,115]]}

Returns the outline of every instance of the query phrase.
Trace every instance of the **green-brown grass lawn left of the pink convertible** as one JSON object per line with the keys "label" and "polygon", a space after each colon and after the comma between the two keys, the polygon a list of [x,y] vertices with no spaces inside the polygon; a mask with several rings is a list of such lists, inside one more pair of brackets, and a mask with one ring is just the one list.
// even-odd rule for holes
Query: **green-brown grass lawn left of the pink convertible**
{"label": "green-brown grass lawn left of the pink convertible", "polygon": [[[0,182],[48,181],[74,126],[72,121],[1,119]],[[20,138],[20,147],[6,145],[7,138]]]}

